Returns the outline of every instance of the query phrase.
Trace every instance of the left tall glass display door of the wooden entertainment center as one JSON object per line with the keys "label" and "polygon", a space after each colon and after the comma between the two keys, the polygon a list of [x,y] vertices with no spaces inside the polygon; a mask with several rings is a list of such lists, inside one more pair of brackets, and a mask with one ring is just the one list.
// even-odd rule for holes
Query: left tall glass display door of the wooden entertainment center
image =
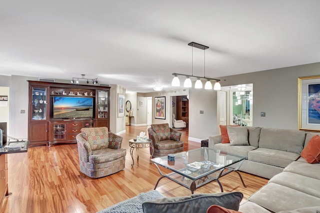
{"label": "left tall glass display door of the wooden entertainment center", "polygon": [[32,120],[46,120],[46,94],[47,88],[45,87],[32,87],[32,105],[31,114]]}

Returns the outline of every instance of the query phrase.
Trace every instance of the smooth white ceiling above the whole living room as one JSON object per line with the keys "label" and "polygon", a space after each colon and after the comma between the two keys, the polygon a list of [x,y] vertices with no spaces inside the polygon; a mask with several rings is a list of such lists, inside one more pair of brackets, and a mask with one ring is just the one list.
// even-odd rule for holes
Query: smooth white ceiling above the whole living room
{"label": "smooth white ceiling above the whole living room", "polygon": [[[191,41],[209,46],[212,78],[319,62],[319,10],[320,0],[1,0],[0,75],[169,89],[173,72],[192,73]],[[204,75],[197,48],[193,75]]]}

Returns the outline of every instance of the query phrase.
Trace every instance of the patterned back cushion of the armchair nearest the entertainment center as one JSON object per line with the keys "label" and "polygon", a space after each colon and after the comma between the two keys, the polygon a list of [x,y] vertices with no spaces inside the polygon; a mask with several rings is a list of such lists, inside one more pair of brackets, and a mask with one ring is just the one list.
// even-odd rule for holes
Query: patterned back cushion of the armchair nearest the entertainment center
{"label": "patterned back cushion of the armchair nearest the entertainment center", "polygon": [[81,128],[81,134],[90,144],[92,151],[109,146],[107,127]]}

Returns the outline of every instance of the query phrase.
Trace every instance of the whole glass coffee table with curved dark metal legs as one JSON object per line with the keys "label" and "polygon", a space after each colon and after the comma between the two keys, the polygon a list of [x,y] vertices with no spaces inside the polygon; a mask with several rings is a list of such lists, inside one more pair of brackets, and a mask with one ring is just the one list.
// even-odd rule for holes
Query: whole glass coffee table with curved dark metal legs
{"label": "whole glass coffee table with curved dark metal legs", "polygon": [[[172,160],[172,158],[174,158],[174,160]],[[156,182],[154,189],[157,187],[160,179],[167,177],[174,182],[189,188],[192,194],[196,188],[213,180],[217,181],[221,192],[223,192],[219,178],[232,171],[235,171],[239,175],[243,186],[246,187],[241,174],[237,171],[244,159],[246,159],[245,156],[232,154],[230,152],[223,152],[208,147],[201,147],[175,153],[174,157],[156,157],[151,159],[151,161],[157,167],[161,177]],[[232,166],[235,168],[229,167],[235,163],[237,164]],[[163,174],[159,166],[167,168],[173,172]]]}

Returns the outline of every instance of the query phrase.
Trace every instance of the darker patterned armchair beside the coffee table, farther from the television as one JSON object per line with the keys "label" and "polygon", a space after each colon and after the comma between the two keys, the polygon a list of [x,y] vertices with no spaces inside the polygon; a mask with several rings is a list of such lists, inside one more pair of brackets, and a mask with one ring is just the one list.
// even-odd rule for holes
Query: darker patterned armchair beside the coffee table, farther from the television
{"label": "darker patterned armchair beside the coffee table, farther from the television", "polygon": [[148,134],[154,147],[152,157],[183,151],[183,141],[180,141],[181,132],[170,128],[168,123],[151,124]]}

